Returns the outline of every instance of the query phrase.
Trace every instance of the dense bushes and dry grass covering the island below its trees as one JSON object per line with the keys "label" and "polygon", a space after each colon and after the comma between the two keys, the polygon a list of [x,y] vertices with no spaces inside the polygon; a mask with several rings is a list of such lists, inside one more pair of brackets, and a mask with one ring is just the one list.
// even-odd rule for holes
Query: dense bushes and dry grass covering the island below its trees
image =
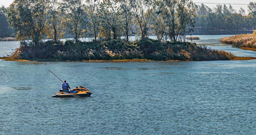
{"label": "dense bushes and dry grass covering the island below its trees", "polygon": [[123,40],[101,40],[65,43],[47,41],[38,46],[22,42],[21,47],[5,60],[36,61],[168,61],[168,60],[231,60],[234,55],[224,51],[212,50],[190,42],[164,42],[143,39],[135,42]]}

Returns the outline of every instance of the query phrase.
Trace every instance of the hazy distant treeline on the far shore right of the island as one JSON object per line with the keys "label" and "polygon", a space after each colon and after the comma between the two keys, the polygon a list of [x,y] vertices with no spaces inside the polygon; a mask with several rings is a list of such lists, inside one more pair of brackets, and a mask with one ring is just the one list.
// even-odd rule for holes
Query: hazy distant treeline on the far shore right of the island
{"label": "hazy distant treeline on the far shore right of the island", "polygon": [[231,5],[216,5],[209,8],[196,5],[196,31],[246,31],[256,29],[256,2],[248,5],[249,15],[241,7],[238,12]]}

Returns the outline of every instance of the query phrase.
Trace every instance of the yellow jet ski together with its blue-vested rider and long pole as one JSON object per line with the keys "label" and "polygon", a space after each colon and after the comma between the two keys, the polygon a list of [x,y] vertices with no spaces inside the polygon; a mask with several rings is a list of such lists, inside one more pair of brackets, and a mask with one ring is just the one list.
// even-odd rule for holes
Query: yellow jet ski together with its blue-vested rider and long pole
{"label": "yellow jet ski together with its blue-vested rider and long pole", "polygon": [[[50,70],[48,70],[48,71],[50,71]],[[53,75],[55,75],[55,74],[53,74]],[[56,77],[60,80],[60,78],[58,76],[56,76]],[[76,86],[76,88],[71,90],[68,83],[66,83],[66,81],[65,82],[61,81],[61,82],[63,83],[62,84],[63,89],[59,90],[59,92],[57,94],[52,95],[52,97],[59,97],[59,98],[77,97],[77,98],[81,98],[81,97],[90,97],[91,94],[92,94],[92,92],[90,90],[88,90],[87,88],[85,88],[85,87],[82,87],[82,86],[77,87]]]}

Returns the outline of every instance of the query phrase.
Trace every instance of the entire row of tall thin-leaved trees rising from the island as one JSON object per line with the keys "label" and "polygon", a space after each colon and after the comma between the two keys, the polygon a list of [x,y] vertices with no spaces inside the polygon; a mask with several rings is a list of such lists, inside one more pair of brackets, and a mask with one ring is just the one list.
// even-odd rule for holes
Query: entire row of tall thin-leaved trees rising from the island
{"label": "entire row of tall thin-leaved trees rising from the island", "polygon": [[[155,34],[159,41],[183,41],[194,28],[195,6],[190,0],[15,0],[8,20],[19,40],[35,45],[46,35],[57,42],[69,31],[80,37],[129,41],[132,32],[141,39]],[[132,30],[132,26],[137,26]],[[88,34],[89,33],[89,34]]]}

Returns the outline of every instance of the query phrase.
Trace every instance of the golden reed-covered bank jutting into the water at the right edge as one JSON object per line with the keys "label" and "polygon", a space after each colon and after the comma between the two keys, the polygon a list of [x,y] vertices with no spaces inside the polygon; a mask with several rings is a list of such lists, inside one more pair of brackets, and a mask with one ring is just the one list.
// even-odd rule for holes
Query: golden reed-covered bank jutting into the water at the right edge
{"label": "golden reed-covered bank jutting into the water at the right edge", "polygon": [[256,48],[256,30],[252,34],[223,37],[221,42],[233,44],[235,47]]}

